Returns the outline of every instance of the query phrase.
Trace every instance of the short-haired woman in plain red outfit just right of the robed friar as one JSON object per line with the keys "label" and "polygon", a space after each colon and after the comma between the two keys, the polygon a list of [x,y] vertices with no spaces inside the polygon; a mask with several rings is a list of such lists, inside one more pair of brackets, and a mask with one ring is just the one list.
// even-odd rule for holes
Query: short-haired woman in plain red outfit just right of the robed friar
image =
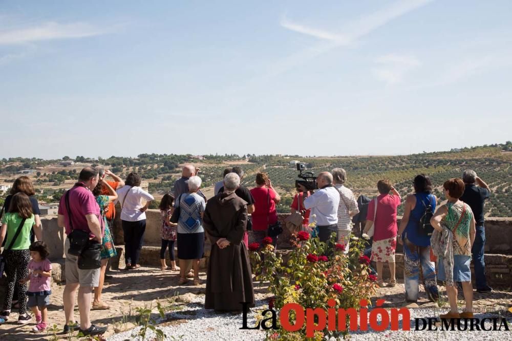
{"label": "short-haired woman in plain red outfit just right of the robed friar", "polygon": [[[254,198],[252,213],[252,241],[261,243],[267,236],[268,225],[278,221],[275,205],[281,201],[278,192],[272,188],[272,182],[266,173],[256,174],[256,187],[250,190]],[[275,243],[275,238],[274,238]]]}

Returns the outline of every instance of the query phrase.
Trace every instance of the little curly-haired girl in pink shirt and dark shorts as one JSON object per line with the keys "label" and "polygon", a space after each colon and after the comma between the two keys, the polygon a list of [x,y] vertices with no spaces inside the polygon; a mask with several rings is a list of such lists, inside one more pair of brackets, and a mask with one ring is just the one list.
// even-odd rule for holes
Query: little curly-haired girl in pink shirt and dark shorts
{"label": "little curly-haired girl in pink shirt and dark shorts", "polygon": [[48,327],[48,308],[50,305],[50,278],[52,277],[52,263],[47,259],[50,255],[46,244],[42,241],[36,241],[30,245],[29,276],[20,282],[30,281],[27,296],[29,302],[27,306],[32,309],[35,315],[35,327],[32,330],[35,333],[46,330]]}

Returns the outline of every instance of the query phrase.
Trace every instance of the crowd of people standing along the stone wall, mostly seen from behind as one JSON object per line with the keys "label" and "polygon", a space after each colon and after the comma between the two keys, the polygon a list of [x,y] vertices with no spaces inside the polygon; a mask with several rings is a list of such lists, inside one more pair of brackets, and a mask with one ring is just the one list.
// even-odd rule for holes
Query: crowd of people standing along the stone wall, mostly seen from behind
{"label": "crowd of people standing along the stone wall, mostly seen from behind", "polygon": [[[198,173],[198,168],[185,166],[172,192],[166,193],[160,201],[161,269],[179,271],[179,285],[190,280],[193,285],[199,285],[199,262],[208,239],[211,251],[205,308],[240,313],[241,302],[254,306],[247,247],[249,243],[260,243],[268,237],[274,245],[277,244],[279,232],[269,236],[269,226],[279,225],[276,205],[281,197],[263,172],[255,175],[254,188],[249,190],[243,186],[244,172],[236,166],[225,169],[223,179],[215,184],[215,196],[207,200],[201,191],[202,181]],[[336,243],[345,245],[347,253],[352,221],[362,221],[362,236],[372,236],[368,250],[376,264],[380,287],[396,285],[398,241],[403,245],[406,301],[418,300],[421,278],[427,297],[436,302],[439,297],[437,280],[443,280],[451,309],[441,318],[471,317],[471,259],[475,263],[477,290],[492,290],[485,280],[483,260],[483,203],[489,197],[489,187],[484,181],[471,170],[465,171],[462,179],[446,180],[443,189],[447,201],[439,206],[439,199],[432,194],[430,178],[417,175],[413,181],[414,193],[403,202],[404,214],[399,225],[397,208],[402,204],[402,198],[389,180],[378,181],[379,195],[373,200],[361,197],[356,200],[345,186],[346,181],[346,171],[335,168],[318,174],[316,190],[297,184],[290,212],[298,219],[288,221],[293,231],[307,231],[312,237],[318,237],[327,243],[327,252],[333,247],[334,238]],[[109,170],[86,167],[79,173],[77,183],[62,195],[57,223],[67,235],[66,287],[63,292],[66,325],[63,332],[80,330],[83,335],[99,335],[106,330],[106,327],[91,323],[90,310],[91,307],[110,308],[103,302],[101,293],[108,261],[117,255],[111,231],[117,202],[121,207],[125,270],[140,267],[146,230],[145,211],[154,200],[140,185],[141,178],[137,173],[127,174],[122,180]],[[20,176],[14,181],[0,214],[0,243],[4,246],[2,264],[5,264],[7,275],[0,324],[9,319],[13,308],[18,310],[19,324],[29,323],[32,316],[27,309],[30,308],[35,316],[33,331],[40,332],[49,325],[47,306],[51,297],[52,267],[48,248],[42,241],[40,213],[34,194],[30,178]],[[170,266],[166,263],[167,251]],[[389,281],[382,276],[385,264],[391,274]],[[466,302],[462,313],[457,308],[457,283],[461,283]],[[76,298],[79,322],[74,316]]]}

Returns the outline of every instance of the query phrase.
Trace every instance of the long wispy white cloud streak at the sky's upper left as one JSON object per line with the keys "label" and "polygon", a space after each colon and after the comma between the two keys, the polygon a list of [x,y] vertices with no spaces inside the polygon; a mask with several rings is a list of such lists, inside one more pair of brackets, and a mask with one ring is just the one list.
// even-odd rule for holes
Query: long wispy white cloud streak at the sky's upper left
{"label": "long wispy white cloud streak at the sky's upper left", "polygon": [[0,31],[0,45],[13,45],[41,40],[83,38],[108,33],[84,22],[58,24],[46,22],[38,26]]}

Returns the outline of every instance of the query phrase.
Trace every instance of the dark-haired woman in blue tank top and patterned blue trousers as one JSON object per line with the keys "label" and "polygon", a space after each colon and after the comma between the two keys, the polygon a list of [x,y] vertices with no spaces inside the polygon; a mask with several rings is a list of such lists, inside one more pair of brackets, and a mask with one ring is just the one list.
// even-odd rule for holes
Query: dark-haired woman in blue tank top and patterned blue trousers
{"label": "dark-haired woman in blue tank top and patterned blue trousers", "polygon": [[430,236],[418,231],[418,224],[426,208],[436,209],[437,198],[431,194],[432,183],[424,174],[414,178],[414,194],[406,199],[403,217],[398,229],[398,242],[403,245],[403,281],[406,301],[417,302],[419,293],[419,271],[421,269],[426,295],[437,302],[439,291],[436,283],[436,268],[430,260]]}

